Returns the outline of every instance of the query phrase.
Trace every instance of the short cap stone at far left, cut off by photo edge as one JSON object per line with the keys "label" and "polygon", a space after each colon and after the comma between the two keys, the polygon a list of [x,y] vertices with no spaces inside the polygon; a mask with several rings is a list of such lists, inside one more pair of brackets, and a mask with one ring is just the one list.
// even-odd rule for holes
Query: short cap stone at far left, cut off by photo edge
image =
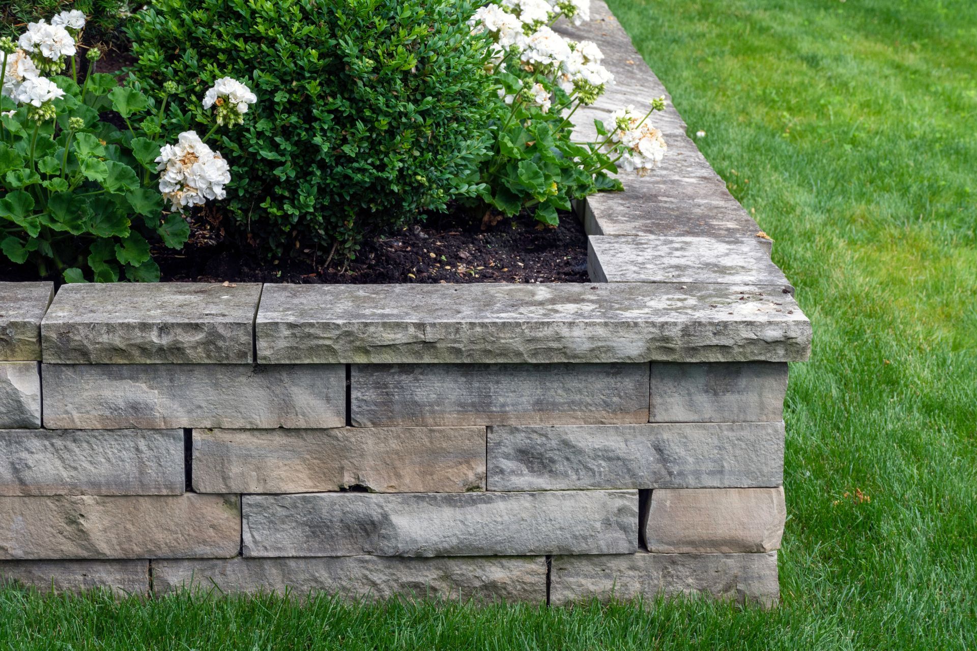
{"label": "short cap stone at far left, cut off by photo edge", "polygon": [[0,361],[41,358],[41,319],[54,293],[51,282],[0,282]]}

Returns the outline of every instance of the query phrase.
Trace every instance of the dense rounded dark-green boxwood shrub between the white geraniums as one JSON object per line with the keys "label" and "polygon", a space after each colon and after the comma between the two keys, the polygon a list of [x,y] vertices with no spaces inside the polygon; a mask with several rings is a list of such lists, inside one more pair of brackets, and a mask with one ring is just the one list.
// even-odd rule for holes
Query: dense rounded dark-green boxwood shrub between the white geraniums
{"label": "dense rounded dark-green boxwood shrub between the white geraniums", "polygon": [[[314,243],[354,254],[384,227],[472,196],[488,143],[488,45],[471,0],[154,0],[130,20],[135,74],[197,98],[221,76],[257,94],[222,142],[226,208],[280,255]],[[320,258],[321,259],[321,258]]]}

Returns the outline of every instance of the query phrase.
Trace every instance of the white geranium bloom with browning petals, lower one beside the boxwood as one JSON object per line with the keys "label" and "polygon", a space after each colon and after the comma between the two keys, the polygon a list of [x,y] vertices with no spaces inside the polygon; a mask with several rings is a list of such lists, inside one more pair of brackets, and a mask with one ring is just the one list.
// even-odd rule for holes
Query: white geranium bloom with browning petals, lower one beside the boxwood
{"label": "white geranium bloom with browning petals, lower one beside the boxwood", "polygon": [[175,211],[227,195],[224,185],[231,183],[231,166],[194,131],[180,134],[176,144],[164,144],[155,162],[159,191]]}

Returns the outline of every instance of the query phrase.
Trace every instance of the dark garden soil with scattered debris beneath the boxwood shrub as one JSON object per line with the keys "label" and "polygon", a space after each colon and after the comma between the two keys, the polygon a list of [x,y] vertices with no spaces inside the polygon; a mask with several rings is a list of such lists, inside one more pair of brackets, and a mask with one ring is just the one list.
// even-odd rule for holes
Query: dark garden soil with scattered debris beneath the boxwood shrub
{"label": "dark garden soil with scattered debris beneath the boxwood shrub", "polygon": [[[215,219],[216,218],[216,219]],[[589,282],[587,236],[570,213],[556,227],[529,215],[496,224],[461,211],[368,239],[350,261],[303,249],[268,259],[224,234],[220,218],[197,216],[183,251],[153,249],[161,280],[271,283]],[[328,264],[328,266],[326,266]]]}

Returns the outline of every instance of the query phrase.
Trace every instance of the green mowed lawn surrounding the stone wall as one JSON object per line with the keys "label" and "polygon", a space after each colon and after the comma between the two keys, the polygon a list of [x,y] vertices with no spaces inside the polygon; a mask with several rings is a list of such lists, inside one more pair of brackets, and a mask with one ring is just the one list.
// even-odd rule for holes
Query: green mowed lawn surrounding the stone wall
{"label": "green mowed lawn surrounding the stone wall", "polygon": [[973,0],[612,6],[776,240],[814,324],[787,395],[780,608],[116,604],[8,590],[4,648],[977,645]]}

